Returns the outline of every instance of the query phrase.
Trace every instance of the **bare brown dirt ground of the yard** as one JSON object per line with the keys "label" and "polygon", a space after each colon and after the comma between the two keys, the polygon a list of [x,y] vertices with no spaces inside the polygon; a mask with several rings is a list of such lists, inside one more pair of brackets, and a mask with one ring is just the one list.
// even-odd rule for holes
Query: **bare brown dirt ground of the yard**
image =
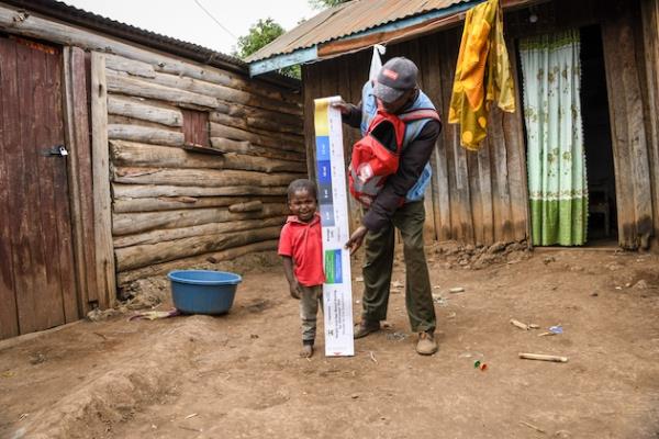
{"label": "bare brown dirt ground of the yard", "polygon": [[[659,438],[659,256],[451,244],[427,254],[433,357],[414,352],[399,288],[387,329],[357,340],[355,357],[325,358],[321,338],[321,352],[300,359],[298,303],[263,257],[224,316],[127,322],[127,311],[1,342],[0,437]],[[163,285],[142,288],[167,296]],[[538,337],[558,324],[563,334]]]}

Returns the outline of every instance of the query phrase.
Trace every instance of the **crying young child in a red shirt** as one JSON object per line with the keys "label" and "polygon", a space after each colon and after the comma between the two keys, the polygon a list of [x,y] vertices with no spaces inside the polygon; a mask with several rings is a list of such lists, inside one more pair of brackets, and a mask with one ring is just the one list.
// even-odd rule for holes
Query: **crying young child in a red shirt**
{"label": "crying young child in a red shirt", "polygon": [[311,180],[293,181],[288,188],[288,204],[292,215],[288,217],[279,237],[279,255],[289,282],[291,296],[300,300],[302,318],[301,357],[313,356],[319,303],[322,294],[323,250],[321,217],[316,213],[317,191]]}

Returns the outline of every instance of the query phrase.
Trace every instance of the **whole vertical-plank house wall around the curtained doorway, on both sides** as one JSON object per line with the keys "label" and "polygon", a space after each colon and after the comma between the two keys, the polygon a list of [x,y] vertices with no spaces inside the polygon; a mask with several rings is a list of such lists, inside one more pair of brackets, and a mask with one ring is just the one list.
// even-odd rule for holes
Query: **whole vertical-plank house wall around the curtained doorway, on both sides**
{"label": "whole vertical-plank house wall around the curtained doorway, on both sides", "polygon": [[[555,0],[506,12],[504,25],[511,64],[516,70],[515,44],[522,36],[599,24],[605,53],[611,111],[619,244],[647,248],[659,236],[658,166],[658,0],[605,2]],[[448,104],[461,26],[388,47],[387,58],[406,56],[420,67],[421,87],[439,109]],[[360,99],[368,76],[370,50],[324,60],[303,68],[305,114],[313,98],[340,94]],[[521,83],[517,71],[516,85]],[[517,94],[520,93],[517,87]],[[517,95],[517,98],[520,98]],[[522,102],[517,99],[517,106]],[[525,139],[522,113],[490,114],[488,138],[478,153],[459,146],[455,125],[444,125],[432,158],[432,194],[426,195],[429,236],[473,244],[525,239],[528,232]],[[313,154],[313,119],[305,117],[309,160]],[[346,150],[358,133],[346,136]],[[313,161],[310,161],[312,164]],[[429,195],[429,196],[428,196]],[[353,205],[354,221],[358,219]]]}

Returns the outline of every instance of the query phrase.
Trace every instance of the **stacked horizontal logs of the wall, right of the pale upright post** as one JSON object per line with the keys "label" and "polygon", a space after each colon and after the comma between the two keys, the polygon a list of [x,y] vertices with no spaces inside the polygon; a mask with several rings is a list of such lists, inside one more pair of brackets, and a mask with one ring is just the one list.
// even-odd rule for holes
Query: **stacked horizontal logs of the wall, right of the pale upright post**
{"label": "stacked horizontal logs of the wall, right of the pale upright post", "polygon": [[[104,60],[119,285],[273,250],[287,185],[306,176],[299,99]],[[208,153],[185,149],[181,109],[209,113]]]}

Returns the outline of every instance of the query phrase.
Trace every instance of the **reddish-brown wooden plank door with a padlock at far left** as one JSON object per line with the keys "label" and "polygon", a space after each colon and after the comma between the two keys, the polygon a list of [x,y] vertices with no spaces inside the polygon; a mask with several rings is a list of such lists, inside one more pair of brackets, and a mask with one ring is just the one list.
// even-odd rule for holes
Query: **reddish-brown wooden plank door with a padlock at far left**
{"label": "reddish-brown wooden plank door with a padlock at far left", "polygon": [[0,338],[78,318],[62,53],[0,35]]}

